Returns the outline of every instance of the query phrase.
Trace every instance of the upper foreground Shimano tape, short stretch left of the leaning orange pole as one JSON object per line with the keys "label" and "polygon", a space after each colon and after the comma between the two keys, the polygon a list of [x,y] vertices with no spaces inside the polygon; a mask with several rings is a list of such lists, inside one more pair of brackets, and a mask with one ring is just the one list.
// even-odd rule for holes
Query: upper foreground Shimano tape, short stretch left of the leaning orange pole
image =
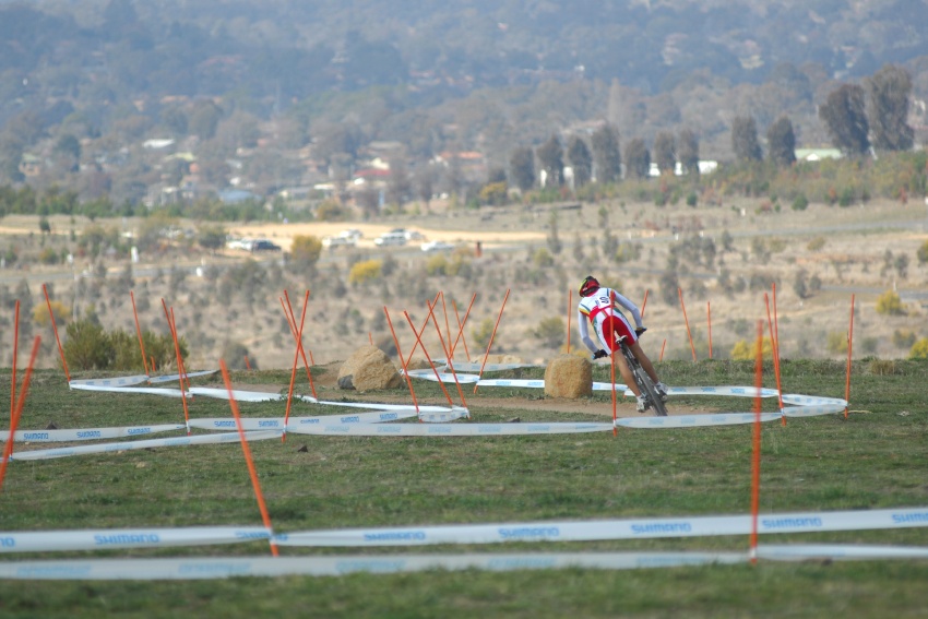
{"label": "upper foreground Shimano tape, short stretch left of the leaning orange pole", "polygon": [[259,526],[0,532],[0,553],[213,546],[271,537],[267,528]]}

